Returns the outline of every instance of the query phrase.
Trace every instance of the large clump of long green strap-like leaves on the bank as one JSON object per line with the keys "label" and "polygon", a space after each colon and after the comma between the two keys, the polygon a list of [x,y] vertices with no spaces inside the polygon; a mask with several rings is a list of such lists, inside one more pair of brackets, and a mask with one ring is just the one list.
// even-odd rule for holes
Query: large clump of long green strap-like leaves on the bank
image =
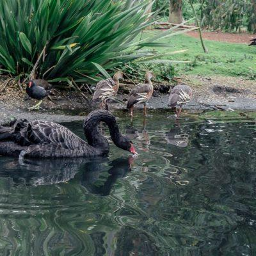
{"label": "large clump of long green strap-like leaves on the bank", "polygon": [[108,76],[108,69],[152,56],[143,47],[166,46],[152,43],[156,36],[134,41],[152,24],[147,6],[147,0],[1,0],[1,72],[53,81]]}

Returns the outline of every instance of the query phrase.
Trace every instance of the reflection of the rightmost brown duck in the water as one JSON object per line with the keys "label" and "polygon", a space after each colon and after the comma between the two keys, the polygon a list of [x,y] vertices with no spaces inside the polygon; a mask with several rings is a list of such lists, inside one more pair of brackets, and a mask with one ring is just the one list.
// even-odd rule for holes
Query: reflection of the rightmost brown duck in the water
{"label": "reflection of the rightmost brown duck in the water", "polygon": [[168,144],[175,145],[177,147],[187,147],[189,143],[189,135],[182,132],[179,121],[175,122],[175,126],[166,132],[164,138]]}

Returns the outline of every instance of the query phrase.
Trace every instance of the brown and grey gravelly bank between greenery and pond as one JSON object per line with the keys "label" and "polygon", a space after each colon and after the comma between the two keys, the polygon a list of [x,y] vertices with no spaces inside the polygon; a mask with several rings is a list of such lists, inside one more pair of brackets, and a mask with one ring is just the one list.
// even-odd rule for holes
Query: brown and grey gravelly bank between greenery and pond
{"label": "brown and grey gravelly bank between greenery and pond", "polygon": [[[223,80],[225,79],[225,80]],[[193,88],[193,99],[184,106],[189,112],[216,109],[223,111],[239,110],[256,111],[256,83],[244,81],[235,77],[183,77],[183,81]],[[158,86],[158,87],[157,87]],[[148,102],[148,109],[169,109],[167,106],[168,92],[161,93],[163,86],[156,85],[154,97]],[[168,88],[167,88],[168,89]],[[15,97],[17,93],[17,97]],[[13,97],[4,97],[13,95]],[[90,96],[89,96],[90,98]],[[109,109],[125,109],[127,93],[120,90],[117,97],[124,104],[110,102]],[[0,97],[0,125],[8,123],[13,118],[26,118],[30,120],[49,120],[52,122],[72,122],[83,120],[84,116],[97,108],[89,100],[82,99],[77,94],[56,95],[52,100],[45,100],[42,111],[27,110],[33,106],[33,100],[24,101],[24,93],[14,92],[11,88]],[[141,109],[142,106],[136,108]],[[128,115],[128,113],[127,113]]]}

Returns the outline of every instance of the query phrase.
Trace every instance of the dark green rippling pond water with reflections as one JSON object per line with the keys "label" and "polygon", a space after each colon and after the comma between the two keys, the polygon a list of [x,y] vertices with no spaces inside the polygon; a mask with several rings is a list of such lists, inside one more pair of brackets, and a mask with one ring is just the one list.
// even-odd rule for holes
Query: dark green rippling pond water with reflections
{"label": "dark green rippling pond water with reflections", "polygon": [[136,159],[0,157],[0,255],[256,253],[255,113],[115,114]]}

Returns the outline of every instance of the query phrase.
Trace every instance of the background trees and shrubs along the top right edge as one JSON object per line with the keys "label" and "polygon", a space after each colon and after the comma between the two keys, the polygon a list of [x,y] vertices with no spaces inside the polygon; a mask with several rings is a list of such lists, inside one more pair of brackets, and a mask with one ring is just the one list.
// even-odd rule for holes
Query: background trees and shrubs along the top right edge
{"label": "background trees and shrubs along the top right edge", "polygon": [[[202,18],[202,26],[225,31],[237,31],[246,28],[256,33],[256,1],[255,0],[193,0],[198,16]],[[166,6],[163,17],[168,17],[169,0],[157,0],[153,10]],[[182,1],[184,19],[191,19],[195,15],[188,0]]]}

